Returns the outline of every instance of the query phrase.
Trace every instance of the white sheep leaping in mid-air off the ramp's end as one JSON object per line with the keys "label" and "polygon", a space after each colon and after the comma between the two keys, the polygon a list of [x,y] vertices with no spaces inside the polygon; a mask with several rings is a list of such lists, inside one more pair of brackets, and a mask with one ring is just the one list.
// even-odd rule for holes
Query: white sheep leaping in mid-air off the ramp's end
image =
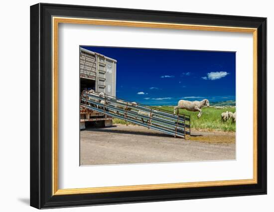
{"label": "white sheep leaping in mid-air off the ramp's end", "polygon": [[178,106],[174,107],[174,114],[176,114],[176,110],[179,109],[186,109],[188,111],[199,111],[198,118],[201,117],[202,115],[202,110],[201,108],[204,106],[209,106],[209,101],[207,99],[204,99],[202,101],[187,101],[187,100],[179,100],[178,101]]}

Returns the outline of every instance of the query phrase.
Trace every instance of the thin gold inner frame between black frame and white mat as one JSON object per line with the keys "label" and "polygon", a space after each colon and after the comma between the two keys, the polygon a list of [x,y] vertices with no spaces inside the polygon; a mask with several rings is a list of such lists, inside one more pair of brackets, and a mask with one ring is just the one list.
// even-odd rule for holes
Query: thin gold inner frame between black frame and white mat
{"label": "thin gold inner frame between black frame and white mat", "polygon": [[[82,189],[58,189],[58,24],[94,24],[131,27],[188,29],[203,31],[226,31],[253,33],[253,179],[227,180],[190,183],[151,184],[134,186],[96,187]],[[106,192],[126,192],[141,190],[178,189],[207,186],[231,186],[257,184],[257,28],[194,25],[162,22],[142,22],[127,20],[106,20],[73,17],[52,17],[52,195],[75,195]]]}

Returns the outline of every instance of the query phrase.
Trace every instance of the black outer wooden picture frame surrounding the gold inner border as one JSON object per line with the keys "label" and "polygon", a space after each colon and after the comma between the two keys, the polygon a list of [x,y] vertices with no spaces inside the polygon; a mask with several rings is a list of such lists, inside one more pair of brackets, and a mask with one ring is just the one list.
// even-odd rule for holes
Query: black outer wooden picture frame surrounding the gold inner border
{"label": "black outer wooden picture frame surrounding the gold inner border", "polygon": [[[258,29],[258,183],[52,195],[52,16]],[[38,3],[30,6],[30,206],[37,209],[267,194],[267,18]]]}

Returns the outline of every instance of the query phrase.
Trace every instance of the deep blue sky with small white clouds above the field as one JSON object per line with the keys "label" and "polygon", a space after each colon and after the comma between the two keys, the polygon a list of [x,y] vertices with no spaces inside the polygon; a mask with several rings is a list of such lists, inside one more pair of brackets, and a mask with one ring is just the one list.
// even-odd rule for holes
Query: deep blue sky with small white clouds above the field
{"label": "deep blue sky with small white clouds above the field", "polygon": [[235,100],[235,52],[81,47],[117,60],[117,97],[147,105]]}

